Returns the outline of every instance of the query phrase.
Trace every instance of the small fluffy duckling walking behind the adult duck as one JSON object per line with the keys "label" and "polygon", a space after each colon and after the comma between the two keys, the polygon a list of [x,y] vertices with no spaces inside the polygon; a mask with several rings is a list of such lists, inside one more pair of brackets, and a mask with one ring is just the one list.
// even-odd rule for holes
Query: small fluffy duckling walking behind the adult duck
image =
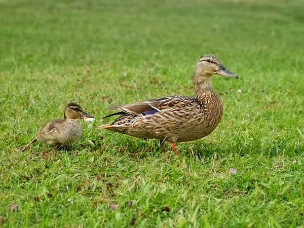
{"label": "small fluffy duckling walking behind the adult duck", "polygon": [[91,121],[94,117],[84,112],[76,103],[69,103],[64,110],[64,120],[52,120],[45,124],[37,133],[36,137],[28,144],[18,148],[23,152],[37,140],[47,144],[69,146],[77,141],[82,135],[82,127],[77,123],[77,119]]}

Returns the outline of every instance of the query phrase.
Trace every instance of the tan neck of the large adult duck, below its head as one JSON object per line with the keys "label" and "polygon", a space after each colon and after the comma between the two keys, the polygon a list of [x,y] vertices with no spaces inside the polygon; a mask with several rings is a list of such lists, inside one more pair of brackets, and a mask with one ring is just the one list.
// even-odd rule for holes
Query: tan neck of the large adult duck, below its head
{"label": "tan neck of the large adult duck, below its head", "polygon": [[199,75],[194,75],[194,85],[195,85],[195,97],[200,98],[206,93],[214,93],[212,83],[212,77],[202,77]]}

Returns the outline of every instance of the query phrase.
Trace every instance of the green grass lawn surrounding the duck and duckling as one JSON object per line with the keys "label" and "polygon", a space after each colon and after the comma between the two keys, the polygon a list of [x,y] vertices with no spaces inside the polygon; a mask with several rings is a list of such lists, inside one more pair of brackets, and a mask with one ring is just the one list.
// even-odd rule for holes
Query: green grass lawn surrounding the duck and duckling
{"label": "green grass lawn surrounding the duck and duckling", "polygon": [[[304,227],[303,15],[300,0],[0,0],[0,223]],[[111,105],[193,95],[209,53],[240,78],[213,78],[223,119],[181,156],[94,129]],[[15,151],[70,101],[96,117],[73,150]]]}

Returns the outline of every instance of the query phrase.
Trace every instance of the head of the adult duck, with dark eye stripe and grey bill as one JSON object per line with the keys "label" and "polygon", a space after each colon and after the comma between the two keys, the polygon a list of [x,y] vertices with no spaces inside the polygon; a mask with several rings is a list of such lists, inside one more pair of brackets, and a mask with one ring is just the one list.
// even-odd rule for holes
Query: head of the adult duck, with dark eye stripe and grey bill
{"label": "head of the adult duck, with dark eye stripe and grey bill", "polygon": [[239,78],[224,67],[214,55],[202,56],[196,65],[195,74],[203,77],[211,77],[213,74],[218,74],[229,78]]}

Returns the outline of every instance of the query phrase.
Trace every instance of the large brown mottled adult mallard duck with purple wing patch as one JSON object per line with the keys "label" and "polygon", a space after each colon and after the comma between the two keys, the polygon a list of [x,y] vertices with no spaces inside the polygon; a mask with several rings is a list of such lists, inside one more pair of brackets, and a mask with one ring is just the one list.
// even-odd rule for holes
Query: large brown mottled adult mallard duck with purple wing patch
{"label": "large brown mottled adult mallard duck with purple wing patch", "polygon": [[223,106],[211,84],[213,74],[238,79],[214,55],[204,55],[194,72],[195,97],[168,96],[113,106],[111,108],[119,112],[104,118],[121,116],[97,129],[143,139],[159,139],[161,147],[167,141],[176,151],[176,142],[193,141],[209,135],[222,118]]}

